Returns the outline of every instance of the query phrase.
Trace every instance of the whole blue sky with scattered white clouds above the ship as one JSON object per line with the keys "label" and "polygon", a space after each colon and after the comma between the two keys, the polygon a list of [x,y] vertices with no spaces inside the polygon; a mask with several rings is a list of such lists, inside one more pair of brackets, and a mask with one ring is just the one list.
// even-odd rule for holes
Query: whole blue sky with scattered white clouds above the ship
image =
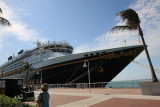
{"label": "whole blue sky with scattered white clouds above the ship", "polygon": [[[141,44],[138,32],[109,31],[121,25],[117,12],[133,8],[155,68],[160,69],[160,1],[159,0],[0,0],[2,17],[11,28],[0,28],[0,64],[21,49],[34,48],[33,42],[68,41],[74,53]],[[145,53],[136,58],[147,64]],[[160,73],[157,73],[160,78]],[[127,66],[114,80],[151,78],[150,71],[135,63]]]}

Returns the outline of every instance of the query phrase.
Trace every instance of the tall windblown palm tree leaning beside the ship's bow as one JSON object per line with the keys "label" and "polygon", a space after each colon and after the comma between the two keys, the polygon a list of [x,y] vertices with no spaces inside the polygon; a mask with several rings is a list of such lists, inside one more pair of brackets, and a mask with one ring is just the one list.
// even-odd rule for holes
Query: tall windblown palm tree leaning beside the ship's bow
{"label": "tall windblown palm tree leaning beside the ship's bow", "polygon": [[148,52],[145,40],[144,40],[144,37],[143,37],[143,31],[140,27],[140,22],[141,21],[139,19],[138,14],[133,9],[129,8],[127,10],[124,10],[122,12],[117,13],[117,15],[119,15],[121,17],[121,20],[122,20],[122,22],[125,22],[125,25],[114,26],[111,29],[111,32],[124,31],[124,30],[128,30],[128,31],[138,30],[139,35],[140,35],[140,37],[142,39],[142,42],[143,42],[143,46],[144,46],[144,50],[146,52],[146,56],[147,56],[147,59],[148,59],[148,62],[149,62],[149,66],[150,66],[150,69],[151,69],[152,82],[158,82],[158,79],[155,75],[155,71],[154,71],[150,56],[149,56],[149,52]]}

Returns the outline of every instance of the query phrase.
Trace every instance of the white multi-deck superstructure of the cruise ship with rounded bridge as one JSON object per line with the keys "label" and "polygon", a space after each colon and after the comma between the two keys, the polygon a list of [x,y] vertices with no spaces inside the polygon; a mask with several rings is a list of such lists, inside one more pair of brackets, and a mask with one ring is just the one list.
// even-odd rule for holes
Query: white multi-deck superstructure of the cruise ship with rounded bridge
{"label": "white multi-deck superstructure of the cruise ship with rounded bridge", "polygon": [[0,69],[3,72],[3,74],[1,72],[0,77],[19,77],[19,73],[23,72],[23,62],[28,62],[32,65],[32,69],[38,70],[41,67],[50,65],[50,59],[70,55],[73,52],[73,47],[66,41],[54,41],[53,43],[48,41],[46,44],[37,41],[36,45],[37,47],[32,50],[21,50],[16,57],[10,56],[8,61],[0,66]]}

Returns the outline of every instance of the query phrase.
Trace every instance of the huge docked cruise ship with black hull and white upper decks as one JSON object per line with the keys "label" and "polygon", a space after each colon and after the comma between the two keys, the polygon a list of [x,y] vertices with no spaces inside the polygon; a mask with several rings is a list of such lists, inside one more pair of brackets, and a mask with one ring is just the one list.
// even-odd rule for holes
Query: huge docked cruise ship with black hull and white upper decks
{"label": "huge docked cruise ship with black hull and white upper decks", "polygon": [[[88,83],[89,71],[91,83],[110,82],[143,50],[142,45],[135,45],[72,54],[73,47],[66,41],[37,41],[34,49],[10,56],[0,66],[0,78],[23,78],[35,84],[40,80],[49,84]],[[22,63],[30,65],[28,72]]]}

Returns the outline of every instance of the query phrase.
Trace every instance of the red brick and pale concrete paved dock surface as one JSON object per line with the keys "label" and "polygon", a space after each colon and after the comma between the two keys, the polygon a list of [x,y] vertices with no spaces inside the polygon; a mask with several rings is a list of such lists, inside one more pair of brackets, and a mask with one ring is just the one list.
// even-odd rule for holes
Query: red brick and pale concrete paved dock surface
{"label": "red brick and pale concrete paved dock surface", "polygon": [[[41,90],[34,91],[37,98]],[[50,107],[160,107],[160,96],[142,95],[140,88],[49,89]],[[36,102],[26,102],[36,105]]]}

